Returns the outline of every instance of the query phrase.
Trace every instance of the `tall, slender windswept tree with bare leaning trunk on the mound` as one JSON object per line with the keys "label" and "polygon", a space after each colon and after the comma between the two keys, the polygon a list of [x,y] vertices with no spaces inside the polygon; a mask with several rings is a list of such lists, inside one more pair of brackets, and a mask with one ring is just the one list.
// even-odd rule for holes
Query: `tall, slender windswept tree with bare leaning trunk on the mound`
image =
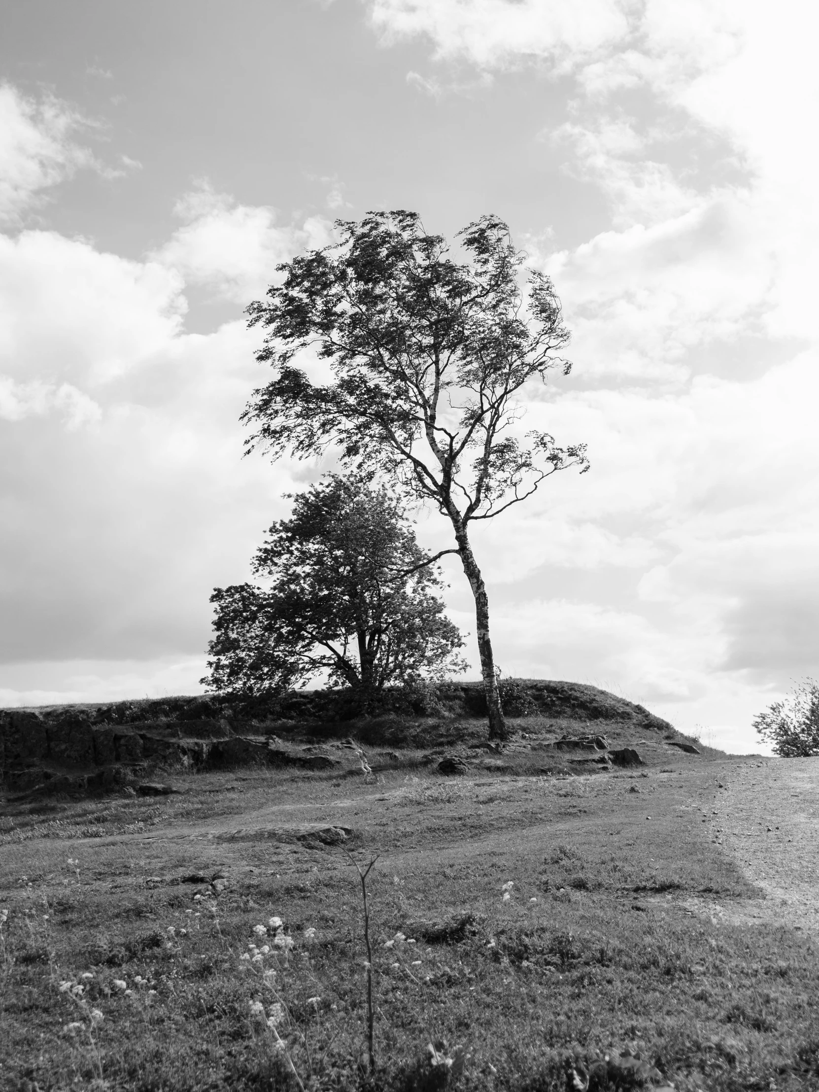
{"label": "tall, slender windswept tree with bare leaning trunk on the mound", "polygon": [[[547,432],[513,434],[520,394],[555,367],[569,341],[551,282],[530,270],[507,225],[484,216],[459,233],[465,261],[412,212],[337,221],[341,242],[278,266],[283,283],[251,304],[249,325],[268,333],[257,354],[274,378],[253,392],[242,419],[248,450],[317,456],[381,474],[447,515],[475,600],[489,735],[507,735],[489,639],[486,585],[470,525],[525,500],[585,448],[558,448]],[[333,380],[298,367],[308,348]]]}

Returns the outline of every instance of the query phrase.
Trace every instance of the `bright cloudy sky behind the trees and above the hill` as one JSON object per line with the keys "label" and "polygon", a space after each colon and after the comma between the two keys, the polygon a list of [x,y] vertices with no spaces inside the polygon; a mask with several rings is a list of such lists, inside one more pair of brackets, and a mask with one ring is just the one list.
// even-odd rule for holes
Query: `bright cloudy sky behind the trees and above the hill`
{"label": "bright cloudy sky behind the trees and above the hill", "polygon": [[500,215],[572,331],[525,424],[592,468],[475,534],[503,674],[760,749],[819,663],[818,31],[805,0],[3,5],[0,704],[201,691],[211,591],[332,467],[242,458],[244,309],[403,207]]}

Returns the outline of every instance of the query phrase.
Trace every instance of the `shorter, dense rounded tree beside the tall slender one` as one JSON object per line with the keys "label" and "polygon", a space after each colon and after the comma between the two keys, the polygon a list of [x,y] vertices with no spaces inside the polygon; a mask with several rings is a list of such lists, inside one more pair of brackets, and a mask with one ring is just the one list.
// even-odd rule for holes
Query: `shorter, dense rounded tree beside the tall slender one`
{"label": "shorter, dense rounded tree beside the tall slender one", "polygon": [[213,690],[280,693],[319,672],[356,690],[361,708],[391,682],[465,665],[458,628],[435,594],[438,572],[401,505],[382,486],[330,475],[294,497],[257,550],[264,586],[217,587]]}

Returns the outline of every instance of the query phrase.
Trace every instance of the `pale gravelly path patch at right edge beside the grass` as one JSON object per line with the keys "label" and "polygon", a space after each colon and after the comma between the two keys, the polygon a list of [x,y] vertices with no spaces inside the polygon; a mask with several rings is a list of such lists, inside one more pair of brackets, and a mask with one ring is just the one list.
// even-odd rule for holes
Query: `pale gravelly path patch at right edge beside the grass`
{"label": "pale gravelly path patch at right edge beside the grass", "polygon": [[752,759],[716,770],[712,839],[767,898],[712,912],[819,929],[819,759]]}

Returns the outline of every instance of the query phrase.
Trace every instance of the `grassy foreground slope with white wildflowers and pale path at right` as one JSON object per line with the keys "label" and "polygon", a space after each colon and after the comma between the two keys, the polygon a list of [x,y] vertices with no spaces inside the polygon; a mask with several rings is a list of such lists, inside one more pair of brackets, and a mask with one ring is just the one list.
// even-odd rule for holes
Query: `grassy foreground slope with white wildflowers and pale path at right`
{"label": "grassy foreground slope with white wildflowers and pale path at right", "polygon": [[[817,1089],[798,862],[815,867],[819,771],[666,750],[460,778],[371,750],[369,776],[246,769],[167,778],[166,797],[8,803],[0,1081]],[[348,853],[378,854],[372,1075]]]}

